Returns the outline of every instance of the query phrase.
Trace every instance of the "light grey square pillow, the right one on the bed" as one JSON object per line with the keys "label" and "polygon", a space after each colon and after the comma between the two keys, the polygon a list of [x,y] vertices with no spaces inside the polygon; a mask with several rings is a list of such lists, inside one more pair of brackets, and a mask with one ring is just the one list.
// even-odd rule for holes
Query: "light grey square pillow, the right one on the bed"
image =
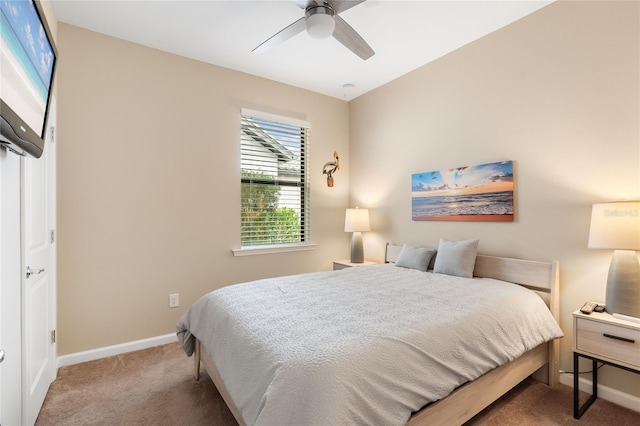
{"label": "light grey square pillow, the right one on the bed", "polygon": [[433,272],[473,278],[479,240],[449,241],[440,238]]}

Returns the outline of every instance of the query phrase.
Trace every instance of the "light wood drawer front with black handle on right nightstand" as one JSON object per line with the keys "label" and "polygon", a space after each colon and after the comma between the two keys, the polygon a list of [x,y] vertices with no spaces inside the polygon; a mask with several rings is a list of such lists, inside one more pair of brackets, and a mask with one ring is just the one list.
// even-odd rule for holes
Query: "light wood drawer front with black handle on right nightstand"
{"label": "light wood drawer front with black handle on right nightstand", "polygon": [[640,368],[640,330],[577,318],[576,349]]}

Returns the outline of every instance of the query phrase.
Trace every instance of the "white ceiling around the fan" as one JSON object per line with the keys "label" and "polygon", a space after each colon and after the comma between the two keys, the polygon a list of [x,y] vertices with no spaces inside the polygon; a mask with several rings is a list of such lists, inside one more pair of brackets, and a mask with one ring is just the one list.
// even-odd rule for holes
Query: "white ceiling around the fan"
{"label": "white ceiling around the fan", "polygon": [[293,1],[52,0],[60,22],[346,100],[551,2],[368,0],[340,14],[376,52],[363,61],[306,32],[252,53],[304,16]]}

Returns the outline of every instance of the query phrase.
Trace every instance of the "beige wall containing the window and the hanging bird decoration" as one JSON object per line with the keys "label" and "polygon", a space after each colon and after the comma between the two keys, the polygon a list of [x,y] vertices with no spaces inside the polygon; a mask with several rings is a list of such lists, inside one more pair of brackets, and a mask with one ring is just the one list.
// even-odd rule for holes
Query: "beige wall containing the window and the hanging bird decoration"
{"label": "beige wall containing the window and the hanging bird decoration", "polygon": [[[58,38],[58,355],[173,333],[213,289],[348,257],[346,102],[62,23]],[[233,257],[242,107],[311,122],[316,250]]]}

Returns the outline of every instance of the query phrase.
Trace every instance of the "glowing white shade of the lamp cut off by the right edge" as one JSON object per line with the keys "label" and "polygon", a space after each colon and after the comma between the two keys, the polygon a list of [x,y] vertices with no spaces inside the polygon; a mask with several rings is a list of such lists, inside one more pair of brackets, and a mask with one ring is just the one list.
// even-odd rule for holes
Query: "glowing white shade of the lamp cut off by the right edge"
{"label": "glowing white shade of the lamp cut off by the right edge", "polygon": [[589,248],[640,250],[640,201],[594,204]]}

